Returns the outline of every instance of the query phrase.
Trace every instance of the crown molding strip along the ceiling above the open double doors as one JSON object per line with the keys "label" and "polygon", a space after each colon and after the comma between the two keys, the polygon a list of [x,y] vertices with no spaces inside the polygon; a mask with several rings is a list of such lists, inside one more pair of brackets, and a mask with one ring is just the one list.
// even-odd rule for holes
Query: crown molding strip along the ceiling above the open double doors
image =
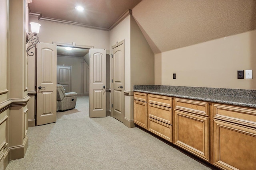
{"label": "crown molding strip along the ceiling above the open double doors", "polygon": [[48,17],[41,17],[40,20],[41,21],[49,21],[49,22],[57,22],[57,23],[65,23],[65,24],[69,24],[69,25],[77,25],[77,26],[86,27],[86,28],[100,29],[100,30],[108,31],[108,28],[95,27],[95,26],[86,25],[86,24],[83,24],[83,23],[65,21],[65,20],[58,20],[58,19],[48,18]]}

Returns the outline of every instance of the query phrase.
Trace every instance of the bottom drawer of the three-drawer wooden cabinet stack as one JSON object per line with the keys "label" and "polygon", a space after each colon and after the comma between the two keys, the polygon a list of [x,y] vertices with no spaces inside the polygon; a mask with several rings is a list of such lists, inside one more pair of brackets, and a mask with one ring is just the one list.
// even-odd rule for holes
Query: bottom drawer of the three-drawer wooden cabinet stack
{"label": "bottom drawer of the three-drawer wooden cabinet stack", "polygon": [[172,126],[148,117],[148,131],[172,142]]}

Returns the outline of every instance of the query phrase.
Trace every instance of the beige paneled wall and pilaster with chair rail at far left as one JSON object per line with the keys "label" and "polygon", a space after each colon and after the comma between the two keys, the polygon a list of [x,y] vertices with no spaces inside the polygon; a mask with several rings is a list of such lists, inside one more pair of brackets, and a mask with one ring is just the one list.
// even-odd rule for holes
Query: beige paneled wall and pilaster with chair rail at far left
{"label": "beige paneled wall and pilaster with chair rail at far left", "polygon": [[0,1],[0,164],[23,158],[28,146],[26,0]]}

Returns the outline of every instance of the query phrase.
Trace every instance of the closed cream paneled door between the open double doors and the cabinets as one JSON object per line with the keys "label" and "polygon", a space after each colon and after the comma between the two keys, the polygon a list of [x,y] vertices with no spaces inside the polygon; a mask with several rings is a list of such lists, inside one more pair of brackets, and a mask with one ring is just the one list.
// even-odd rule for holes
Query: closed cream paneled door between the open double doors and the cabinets
{"label": "closed cream paneled door between the open double doors and the cabinets", "polygon": [[[113,48],[113,47],[112,47]],[[124,41],[113,48],[113,117],[124,121]]]}

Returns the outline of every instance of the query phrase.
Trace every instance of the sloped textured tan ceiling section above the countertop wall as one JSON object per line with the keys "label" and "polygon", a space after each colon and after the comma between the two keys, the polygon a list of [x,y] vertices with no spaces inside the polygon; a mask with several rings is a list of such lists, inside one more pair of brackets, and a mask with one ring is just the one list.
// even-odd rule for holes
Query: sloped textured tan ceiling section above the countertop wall
{"label": "sloped textured tan ceiling section above the countertop wall", "polygon": [[142,0],[132,15],[156,54],[256,29],[256,0]]}

